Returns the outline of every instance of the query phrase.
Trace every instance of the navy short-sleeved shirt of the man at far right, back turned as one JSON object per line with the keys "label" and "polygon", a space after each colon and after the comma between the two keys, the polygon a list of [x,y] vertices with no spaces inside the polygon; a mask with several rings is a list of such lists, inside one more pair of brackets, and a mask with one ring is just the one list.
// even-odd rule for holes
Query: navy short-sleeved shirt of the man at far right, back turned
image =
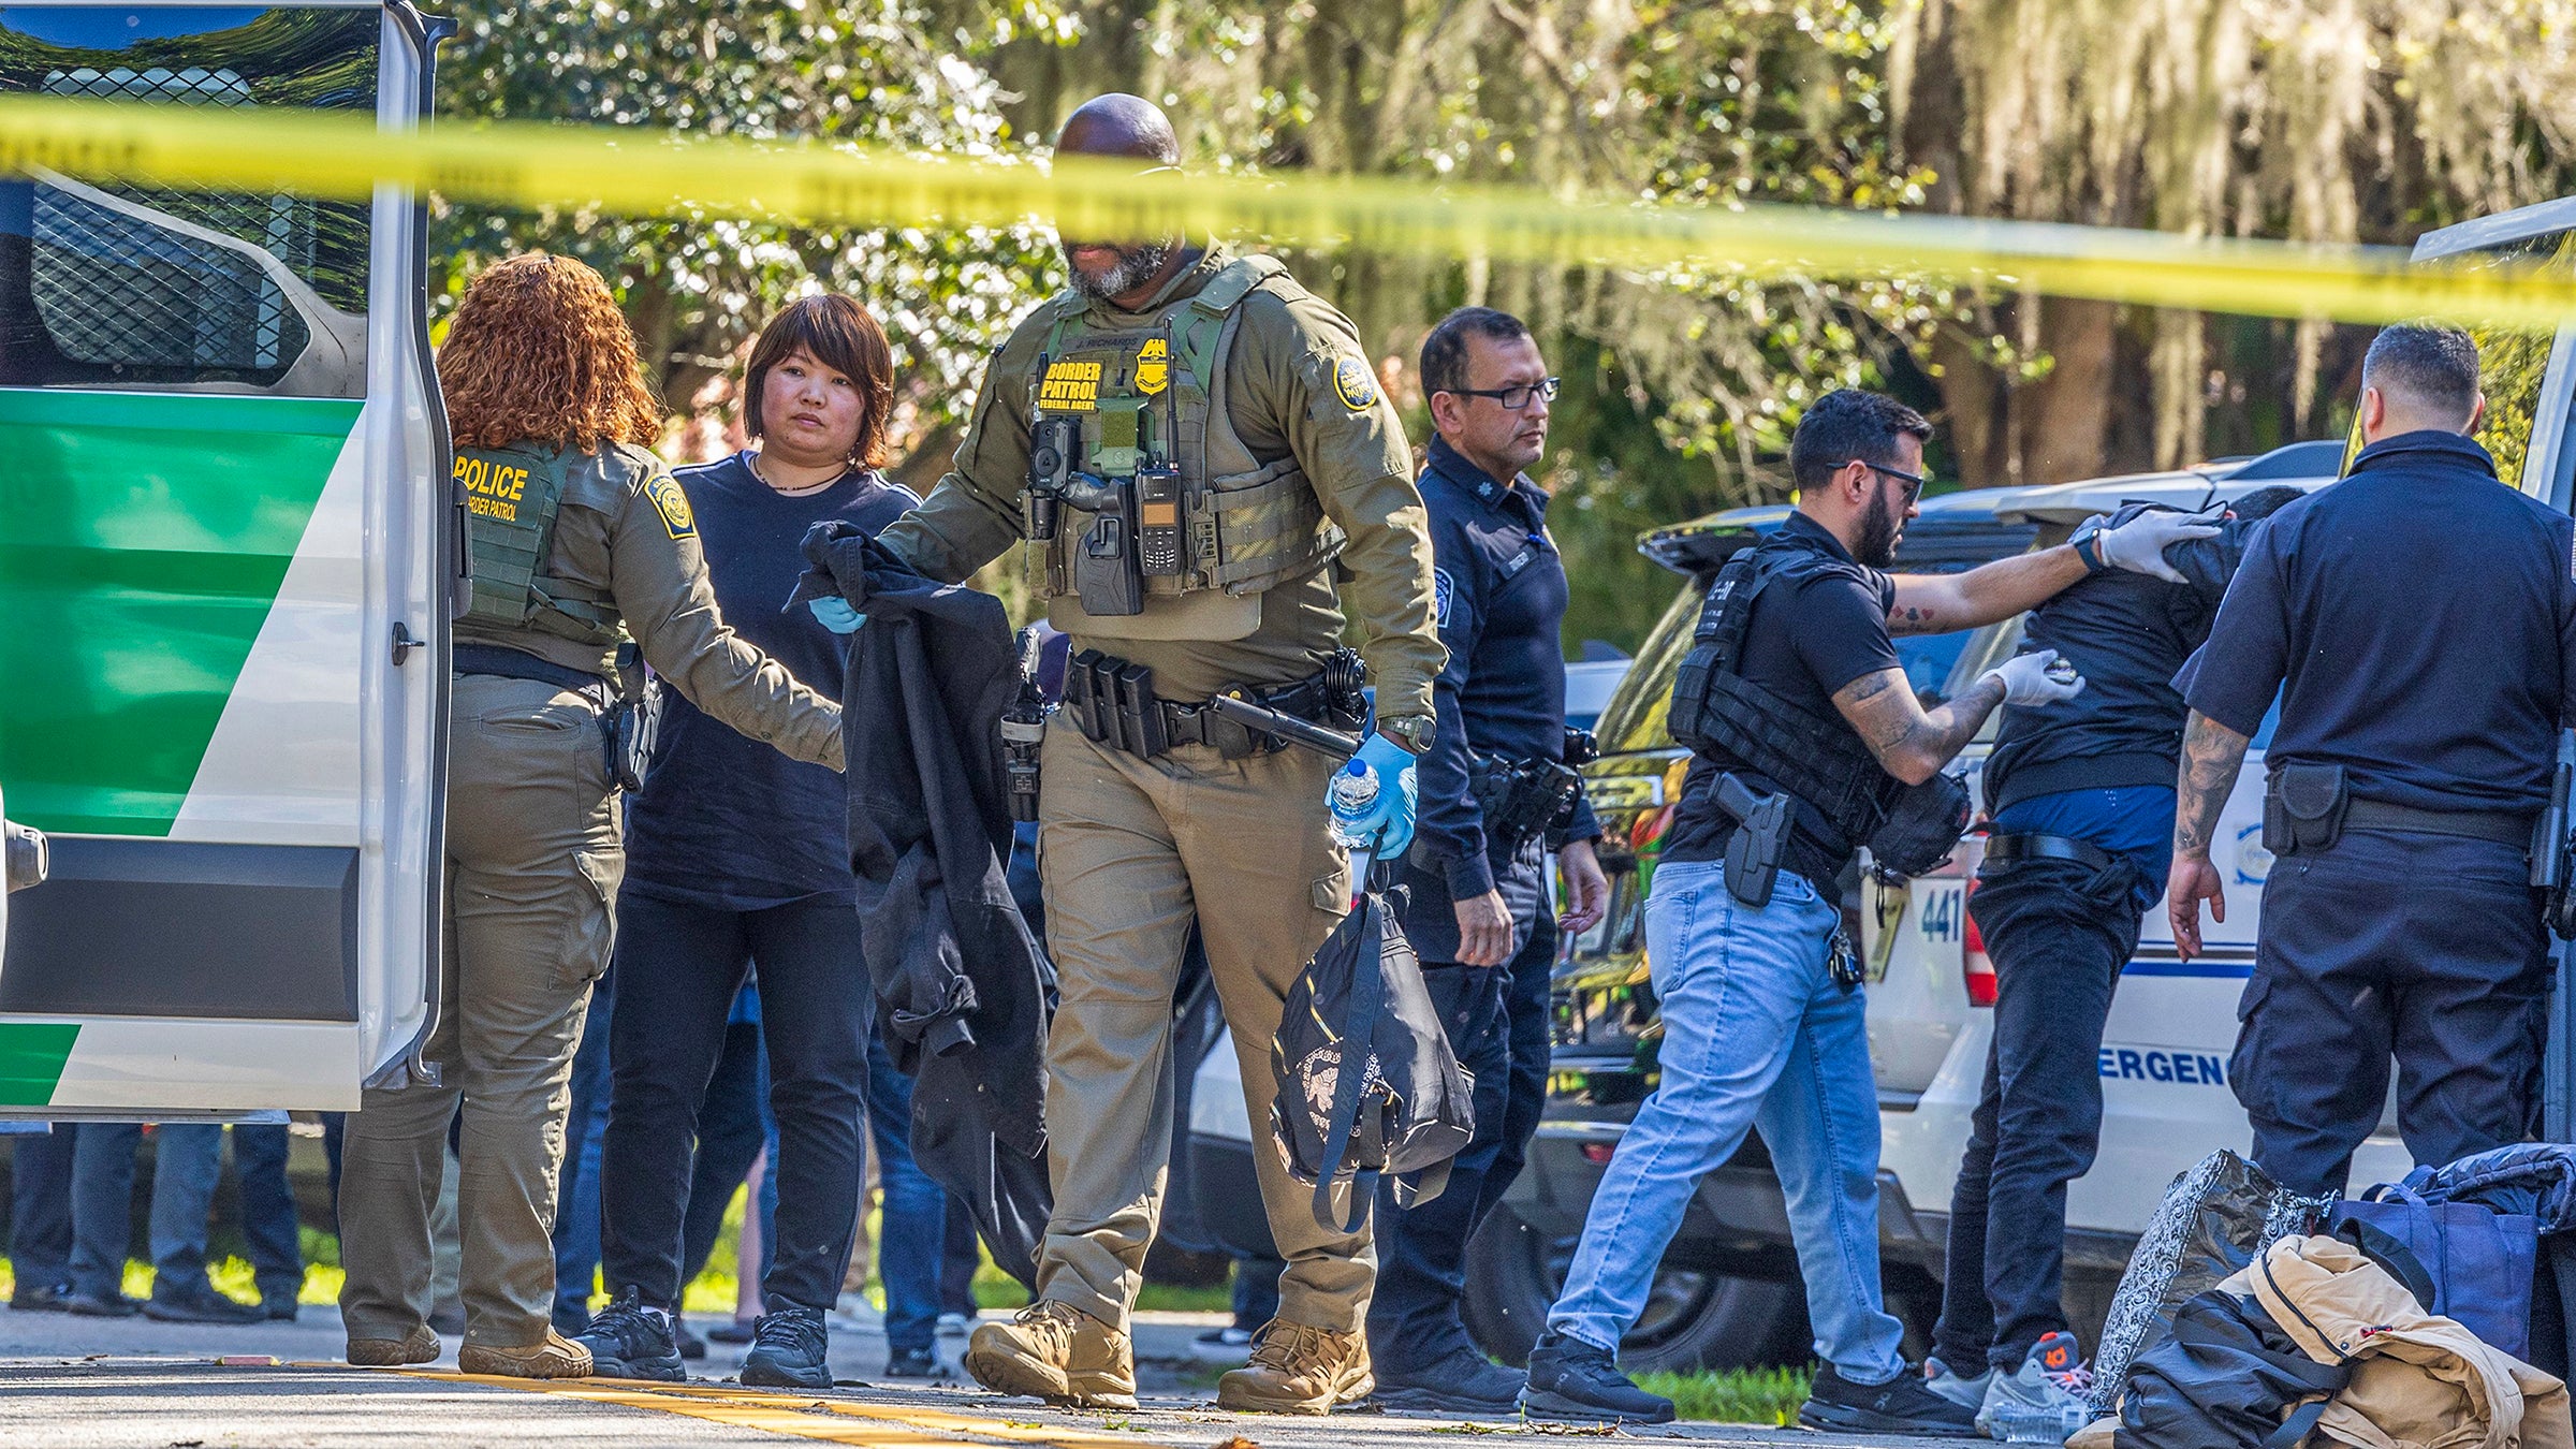
{"label": "navy short-sleeved shirt of the man at far right, back turned", "polygon": [[2174,681],[2267,761],[2344,766],[2354,799],[2548,804],[2576,681],[2576,518],[2458,433],[2401,433],[2272,516]]}

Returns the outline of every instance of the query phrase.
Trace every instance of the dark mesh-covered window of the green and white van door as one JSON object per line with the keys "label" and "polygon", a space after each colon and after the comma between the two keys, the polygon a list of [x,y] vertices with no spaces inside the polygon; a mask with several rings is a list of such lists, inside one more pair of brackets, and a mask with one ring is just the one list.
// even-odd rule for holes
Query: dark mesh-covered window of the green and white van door
{"label": "dark mesh-covered window of the green and white van door", "polygon": [[[376,111],[379,13],[0,5],[0,90]],[[366,397],[368,204],[0,178],[0,387]]]}

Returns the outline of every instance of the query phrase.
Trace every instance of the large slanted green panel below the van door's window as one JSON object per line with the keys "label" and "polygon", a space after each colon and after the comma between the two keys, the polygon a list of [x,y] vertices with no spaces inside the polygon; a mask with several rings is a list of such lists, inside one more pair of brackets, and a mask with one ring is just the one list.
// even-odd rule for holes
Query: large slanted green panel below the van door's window
{"label": "large slanted green panel below the van door's window", "polygon": [[170,833],[358,407],[0,389],[0,781],[13,817]]}

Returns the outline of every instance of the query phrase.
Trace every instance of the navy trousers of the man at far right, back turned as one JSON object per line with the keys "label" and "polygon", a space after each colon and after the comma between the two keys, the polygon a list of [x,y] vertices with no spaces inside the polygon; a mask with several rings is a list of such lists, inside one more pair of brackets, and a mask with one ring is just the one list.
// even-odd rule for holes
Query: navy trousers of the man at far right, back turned
{"label": "navy trousers of the man at far right, back turned", "polygon": [[2344,830],[2280,856],[2228,1085],[2254,1163],[2290,1191],[2342,1191],[2398,1065],[2416,1163],[2527,1142],[2548,1039],[2548,938],[2519,846]]}

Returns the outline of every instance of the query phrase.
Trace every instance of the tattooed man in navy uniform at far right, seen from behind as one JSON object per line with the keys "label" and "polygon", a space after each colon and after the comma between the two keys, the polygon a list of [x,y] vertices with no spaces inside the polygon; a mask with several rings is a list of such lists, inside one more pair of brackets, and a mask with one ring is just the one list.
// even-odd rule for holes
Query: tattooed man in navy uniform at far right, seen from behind
{"label": "tattooed man in navy uniform at far right, seen from behind", "polygon": [[[2246,549],[2177,681],[2166,908],[2184,959],[2226,920],[2218,817],[2280,694],[2264,766],[2254,975],[2228,1085],[2254,1163],[2339,1194],[2388,1104],[2416,1163],[2524,1142],[2550,954],[2527,853],[2576,717],[2576,521],[2496,482],[2468,433],[2478,345],[2385,327],[2362,358],[2362,451]],[[2231,861],[2233,864],[2233,861]]]}

